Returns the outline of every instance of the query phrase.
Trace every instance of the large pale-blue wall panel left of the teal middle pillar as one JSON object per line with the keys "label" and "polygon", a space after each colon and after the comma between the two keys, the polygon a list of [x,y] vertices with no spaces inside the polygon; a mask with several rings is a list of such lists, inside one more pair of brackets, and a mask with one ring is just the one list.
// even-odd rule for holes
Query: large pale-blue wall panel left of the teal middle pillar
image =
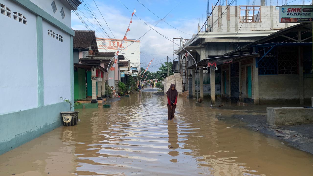
{"label": "large pale-blue wall panel left of the teal middle pillar", "polygon": [[[36,16],[8,0],[0,0],[12,14],[0,13],[0,114],[38,106]],[[13,12],[27,18],[23,24]]]}

